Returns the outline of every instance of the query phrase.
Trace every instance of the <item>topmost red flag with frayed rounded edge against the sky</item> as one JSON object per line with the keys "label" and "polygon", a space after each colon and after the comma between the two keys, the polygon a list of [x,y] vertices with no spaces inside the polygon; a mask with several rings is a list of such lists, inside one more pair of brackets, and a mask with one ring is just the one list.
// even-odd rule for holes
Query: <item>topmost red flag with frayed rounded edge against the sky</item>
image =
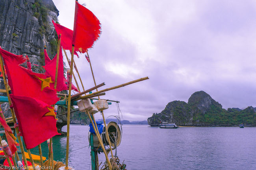
{"label": "topmost red flag with frayed rounded edge against the sky", "polygon": [[93,46],[93,43],[100,37],[100,33],[98,18],[76,1],[72,44],[75,48],[86,50]]}

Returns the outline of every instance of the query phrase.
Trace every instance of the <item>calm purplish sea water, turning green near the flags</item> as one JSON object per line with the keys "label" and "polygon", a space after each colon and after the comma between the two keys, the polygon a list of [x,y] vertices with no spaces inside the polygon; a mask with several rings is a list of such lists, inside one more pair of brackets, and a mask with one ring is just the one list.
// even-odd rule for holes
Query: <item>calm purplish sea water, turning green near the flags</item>
{"label": "calm purplish sea water, turning green near the flags", "polygon": [[[122,130],[117,156],[127,170],[256,170],[256,128],[123,125]],[[70,126],[69,165],[76,170],[91,169],[88,131],[88,126]],[[53,147],[54,160],[65,162],[66,137],[54,137]],[[48,157],[46,142],[42,149]],[[103,153],[98,157],[104,162]]]}

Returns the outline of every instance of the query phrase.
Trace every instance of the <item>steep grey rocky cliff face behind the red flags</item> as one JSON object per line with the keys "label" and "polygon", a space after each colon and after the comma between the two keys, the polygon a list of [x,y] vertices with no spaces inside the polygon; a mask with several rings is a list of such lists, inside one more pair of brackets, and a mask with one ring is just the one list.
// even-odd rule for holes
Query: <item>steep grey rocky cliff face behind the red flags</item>
{"label": "steep grey rocky cliff face behind the red flags", "polygon": [[[50,58],[57,53],[57,34],[52,20],[57,21],[58,9],[52,0],[0,0],[0,46],[17,55],[27,54],[32,63],[32,70],[43,73],[44,45]],[[40,66],[35,66],[37,64]],[[0,88],[4,89],[3,80]],[[6,94],[0,94],[6,95]],[[2,110],[9,104],[1,105]],[[59,107],[58,113],[65,112]],[[5,117],[10,117],[9,110]],[[67,124],[66,116],[58,117],[58,131]]]}

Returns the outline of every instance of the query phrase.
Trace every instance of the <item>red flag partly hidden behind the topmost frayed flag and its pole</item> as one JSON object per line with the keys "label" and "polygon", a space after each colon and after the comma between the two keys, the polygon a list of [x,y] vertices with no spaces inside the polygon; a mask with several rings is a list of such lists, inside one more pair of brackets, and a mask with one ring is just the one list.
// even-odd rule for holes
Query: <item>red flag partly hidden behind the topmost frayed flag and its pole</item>
{"label": "red flag partly hidden behind the topmost frayed flag and its pole", "polygon": [[[61,34],[61,46],[63,49],[67,49],[72,52],[72,37],[73,37],[73,31],[71,29],[68,29],[67,27],[61,26],[52,20],[52,23],[55,27],[55,30],[58,35]],[[78,53],[76,51],[79,51],[80,53],[85,53],[85,51],[80,51],[78,48],[74,49],[74,55],[77,55]]]}

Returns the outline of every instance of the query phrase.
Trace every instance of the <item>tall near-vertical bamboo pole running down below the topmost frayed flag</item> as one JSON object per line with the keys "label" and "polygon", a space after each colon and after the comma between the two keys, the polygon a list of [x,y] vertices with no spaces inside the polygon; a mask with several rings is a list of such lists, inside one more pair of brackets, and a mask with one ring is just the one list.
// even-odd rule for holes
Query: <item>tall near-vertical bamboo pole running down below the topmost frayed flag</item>
{"label": "tall near-vertical bamboo pole running down below the topmost frayed flag", "polygon": [[[70,64],[70,75],[73,73],[73,61],[74,61],[74,46],[72,45],[71,53],[71,64]],[[72,82],[72,77],[69,78],[69,81]],[[67,114],[67,150],[66,150],[66,168],[69,164],[69,124],[70,124],[70,104],[71,104],[71,83],[69,83],[69,97],[68,97],[68,114]]]}

